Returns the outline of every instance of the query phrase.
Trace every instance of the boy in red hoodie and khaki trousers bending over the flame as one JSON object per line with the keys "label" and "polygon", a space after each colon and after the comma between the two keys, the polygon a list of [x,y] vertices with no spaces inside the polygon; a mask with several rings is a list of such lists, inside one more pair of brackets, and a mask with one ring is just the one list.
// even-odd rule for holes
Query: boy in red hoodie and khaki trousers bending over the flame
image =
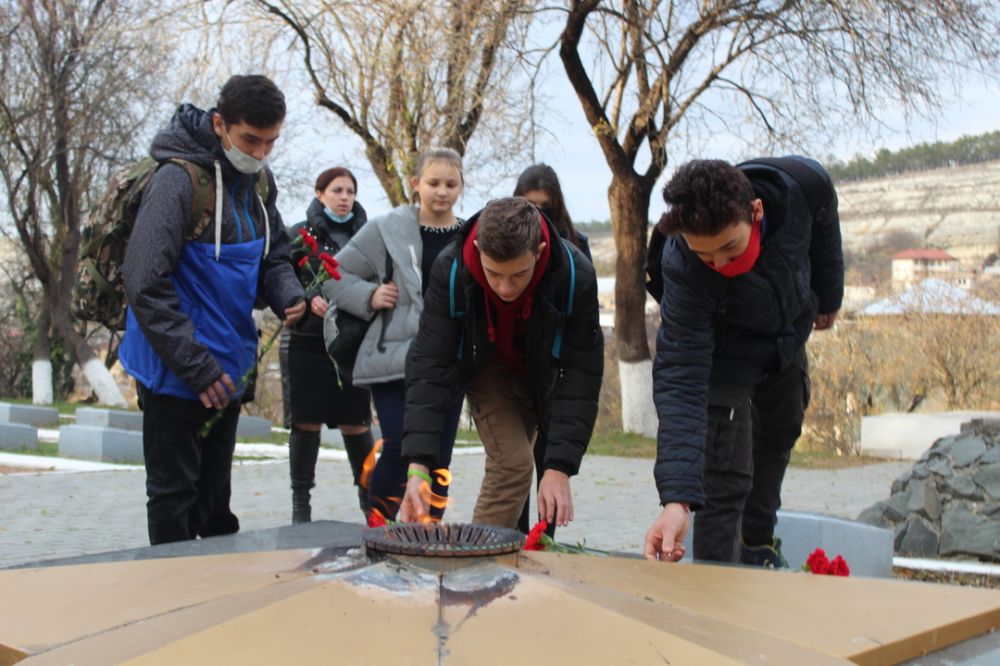
{"label": "boy in red hoodie and khaki trousers bending over the flame", "polygon": [[597,417],[603,376],[597,277],[583,254],[521,197],[471,218],[431,271],[406,359],[403,521],[428,514],[449,405],[466,394],[486,449],[473,521],[514,527],[531,489],[538,424],[549,436],[539,516],[573,519],[569,479]]}

